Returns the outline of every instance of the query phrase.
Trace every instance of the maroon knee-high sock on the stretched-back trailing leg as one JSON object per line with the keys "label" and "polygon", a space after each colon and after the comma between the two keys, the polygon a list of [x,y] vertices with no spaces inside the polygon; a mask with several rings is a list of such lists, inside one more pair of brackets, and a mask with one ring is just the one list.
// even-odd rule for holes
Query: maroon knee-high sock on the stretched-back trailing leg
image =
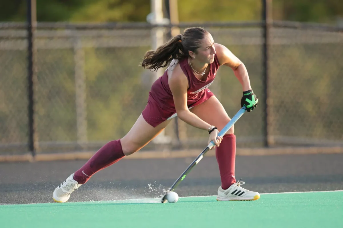
{"label": "maroon knee-high sock on the stretched-back trailing leg", "polygon": [[91,176],[125,157],[120,139],[113,140],[100,148],[81,169],[74,173],[74,180],[84,184]]}

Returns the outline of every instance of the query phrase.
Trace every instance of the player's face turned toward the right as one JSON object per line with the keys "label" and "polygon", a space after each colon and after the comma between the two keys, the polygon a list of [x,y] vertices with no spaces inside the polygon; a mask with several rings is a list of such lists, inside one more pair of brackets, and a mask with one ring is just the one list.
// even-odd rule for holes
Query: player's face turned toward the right
{"label": "player's face turned toward the right", "polygon": [[204,37],[202,44],[200,48],[198,48],[197,52],[198,53],[196,55],[196,59],[198,59],[198,61],[202,63],[213,63],[214,54],[216,52],[214,48],[214,40],[210,33],[208,33]]}

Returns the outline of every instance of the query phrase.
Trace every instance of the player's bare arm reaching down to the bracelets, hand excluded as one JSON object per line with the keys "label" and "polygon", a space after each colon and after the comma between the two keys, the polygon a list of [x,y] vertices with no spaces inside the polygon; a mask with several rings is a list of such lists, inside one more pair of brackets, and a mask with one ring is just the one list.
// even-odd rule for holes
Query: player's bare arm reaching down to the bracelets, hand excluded
{"label": "player's bare arm reaching down to the bracelets, hand excluded", "polygon": [[177,116],[195,128],[207,130],[211,124],[200,119],[187,107],[188,80],[179,66],[175,67],[173,71],[168,71],[168,84],[173,94]]}

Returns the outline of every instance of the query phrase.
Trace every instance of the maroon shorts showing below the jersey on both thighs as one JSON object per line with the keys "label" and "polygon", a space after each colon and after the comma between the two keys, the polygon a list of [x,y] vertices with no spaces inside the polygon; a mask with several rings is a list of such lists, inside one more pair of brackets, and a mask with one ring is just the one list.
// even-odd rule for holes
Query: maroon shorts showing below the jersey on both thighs
{"label": "maroon shorts showing below the jersey on both thighs", "polygon": [[[205,100],[208,100],[213,95],[214,94],[209,89],[205,89],[205,92],[201,96],[201,98],[197,100],[196,102],[194,102],[193,104],[189,105],[188,109],[191,109],[192,107],[203,103]],[[154,98],[152,98],[149,95],[148,103],[145,106],[144,110],[142,111],[142,115],[143,115],[144,120],[155,128],[158,124],[163,123],[165,120],[169,120],[176,117],[177,113],[176,111],[169,112],[162,109],[158,105],[156,100],[154,100]]]}

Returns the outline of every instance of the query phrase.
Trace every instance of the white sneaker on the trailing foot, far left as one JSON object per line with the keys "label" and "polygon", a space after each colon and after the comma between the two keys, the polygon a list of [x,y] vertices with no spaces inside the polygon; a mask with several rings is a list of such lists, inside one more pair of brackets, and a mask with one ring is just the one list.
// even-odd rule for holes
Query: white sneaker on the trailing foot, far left
{"label": "white sneaker on the trailing foot, far left", "polygon": [[78,189],[81,184],[73,179],[74,174],[71,174],[62,184],[60,184],[52,193],[52,199],[57,203],[65,203],[69,200],[70,194]]}

